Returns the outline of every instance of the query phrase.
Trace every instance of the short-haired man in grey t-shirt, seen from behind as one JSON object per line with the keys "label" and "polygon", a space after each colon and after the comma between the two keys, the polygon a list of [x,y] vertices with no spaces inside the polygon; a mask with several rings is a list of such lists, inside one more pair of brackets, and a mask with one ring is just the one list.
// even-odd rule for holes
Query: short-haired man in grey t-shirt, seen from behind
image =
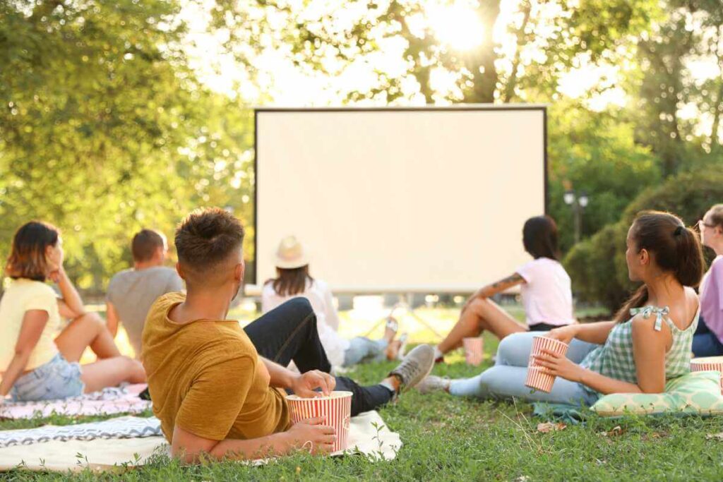
{"label": "short-haired man in grey t-shirt, seen from behind", "polygon": [[121,322],[135,356],[140,359],[141,338],[145,317],[159,296],[183,291],[183,281],[176,270],[163,266],[168,252],[166,236],[143,229],[131,243],[133,269],[116,274],[108,284],[106,314],[108,330],[116,336]]}

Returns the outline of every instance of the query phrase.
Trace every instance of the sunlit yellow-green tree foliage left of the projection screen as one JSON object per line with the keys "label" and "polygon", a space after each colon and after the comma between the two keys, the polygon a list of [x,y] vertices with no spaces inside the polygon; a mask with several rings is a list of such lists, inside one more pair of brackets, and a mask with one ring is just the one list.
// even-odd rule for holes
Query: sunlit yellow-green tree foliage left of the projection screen
{"label": "sunlit yellow-green tree foliage left of the projection screen", "polygon": [[[197,82],[174,2],[0,2],[0,251],[40,218],[100,288],[143,226],[197,205],[248,218],[250,119]],[[244,196],[246,196],[244,198]],[[244,199],[246,202],[244,203]]]}

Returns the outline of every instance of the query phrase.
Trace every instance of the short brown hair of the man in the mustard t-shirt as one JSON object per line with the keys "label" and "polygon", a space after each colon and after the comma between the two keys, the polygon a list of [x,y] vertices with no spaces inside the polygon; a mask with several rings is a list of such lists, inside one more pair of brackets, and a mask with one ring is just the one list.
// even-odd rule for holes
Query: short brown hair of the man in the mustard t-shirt
{"label": "short brown hair of the man in the mustard t-shirt", "polygon": [[179,262],[194,272],[205,272],[223,262],[244,243],[244,226],[219,207],[192,211],[176,228]]}

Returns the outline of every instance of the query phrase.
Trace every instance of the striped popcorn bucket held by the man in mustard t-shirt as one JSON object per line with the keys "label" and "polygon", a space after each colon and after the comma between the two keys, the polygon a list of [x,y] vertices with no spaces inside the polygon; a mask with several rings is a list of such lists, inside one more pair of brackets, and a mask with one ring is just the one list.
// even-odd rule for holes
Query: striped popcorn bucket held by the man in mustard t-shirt
{"label": "striped popcorn bucket held by the man in mustard t-shirt", "polygon": [[351,392],[331,392],[328,397],[316,398],[287,395],[291,423],[299,423],[307,418],[324,417],[325,423],[336,429],[336,443],[331,451],[346,450],[351,423],[351,395]]}

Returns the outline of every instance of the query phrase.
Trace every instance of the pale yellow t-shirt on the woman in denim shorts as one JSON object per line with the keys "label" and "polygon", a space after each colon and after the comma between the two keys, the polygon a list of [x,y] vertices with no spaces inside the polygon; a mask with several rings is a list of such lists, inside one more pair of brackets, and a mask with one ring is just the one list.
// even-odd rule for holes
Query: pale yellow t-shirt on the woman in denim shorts
{"label": "pale yellow t-shirt on the woman in denim shorts", "polygon": [[40,333],[40,339],[30,352],[25,370],[33,370],[51,361],[58,353],[55,337],[60,330],[58,297],[53,288],[42,281],[19,278],[12,280],[0,299],[0,371],[15,355],[15,343],[20,336],[25,311],[38,309],[47,311],[48,322]]}

